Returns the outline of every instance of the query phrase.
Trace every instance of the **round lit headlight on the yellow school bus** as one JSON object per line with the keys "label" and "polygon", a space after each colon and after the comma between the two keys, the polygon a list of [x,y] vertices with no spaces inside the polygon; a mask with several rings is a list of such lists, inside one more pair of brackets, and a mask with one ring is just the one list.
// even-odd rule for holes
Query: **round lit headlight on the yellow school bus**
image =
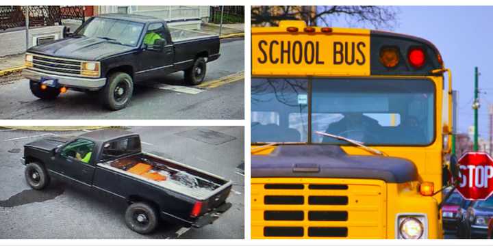
{"label": "round lit headlight on the yellow school bus", "polygon": [[397,220],[398,224],[398,232],[399,236],[397,238],[400,239],[421,239],[426,238],[426,219],[424,216],[419,215],[409,215],[409,216],[400,216]]}

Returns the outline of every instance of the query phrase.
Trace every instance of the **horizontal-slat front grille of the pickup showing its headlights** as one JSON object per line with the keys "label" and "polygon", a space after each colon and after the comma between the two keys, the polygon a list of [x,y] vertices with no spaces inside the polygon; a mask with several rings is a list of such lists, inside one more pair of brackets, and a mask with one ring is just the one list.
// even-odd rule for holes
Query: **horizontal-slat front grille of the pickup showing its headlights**
{"label": "horizontal-slat front grille of the pickup showing its headlights", "polygon": [[73,59],[61,59],[57,57],[47,57],[44,55],[33,55],[33,68],[41,72],[51,72],[56,74],[79,75],[81,72],[81,61]]}

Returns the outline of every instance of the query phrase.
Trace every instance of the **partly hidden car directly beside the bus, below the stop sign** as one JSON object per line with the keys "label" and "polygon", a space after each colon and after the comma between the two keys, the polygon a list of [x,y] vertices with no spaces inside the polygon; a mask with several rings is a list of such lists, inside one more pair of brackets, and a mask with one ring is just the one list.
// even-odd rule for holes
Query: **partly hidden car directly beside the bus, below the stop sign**
{"label": "partly hidden car directly beside the bus, below the stop sign", "polygon": [[444,230],[457,232],[457,226],[459,226],[462,217],[461,205],[464,201],[464,197],[457,191],[453,191],[452,195],[445,200],[442,206]]}

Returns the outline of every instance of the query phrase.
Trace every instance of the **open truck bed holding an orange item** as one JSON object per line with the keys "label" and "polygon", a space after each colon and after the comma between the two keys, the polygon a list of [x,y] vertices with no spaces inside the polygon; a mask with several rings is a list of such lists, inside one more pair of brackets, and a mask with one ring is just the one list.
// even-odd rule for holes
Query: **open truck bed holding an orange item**
{"label": "open truck bed holding an orange item", "polygon": [[231,187],[231,182],[220,176],[149,153],[127,156],[98,165],[201,201]]}

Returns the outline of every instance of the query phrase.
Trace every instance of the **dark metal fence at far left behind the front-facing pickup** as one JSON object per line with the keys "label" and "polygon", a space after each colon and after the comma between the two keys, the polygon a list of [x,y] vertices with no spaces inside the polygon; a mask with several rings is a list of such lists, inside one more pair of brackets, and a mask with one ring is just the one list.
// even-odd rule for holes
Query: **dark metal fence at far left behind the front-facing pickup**
{"label": "dark metal fence at far left behind the front-facing pickup", "polygon": [[29,28],[62,25],[62,20],[84,23],[84,6],[0,6],[0,29],[25,27],[25,13],[29,8]]}

